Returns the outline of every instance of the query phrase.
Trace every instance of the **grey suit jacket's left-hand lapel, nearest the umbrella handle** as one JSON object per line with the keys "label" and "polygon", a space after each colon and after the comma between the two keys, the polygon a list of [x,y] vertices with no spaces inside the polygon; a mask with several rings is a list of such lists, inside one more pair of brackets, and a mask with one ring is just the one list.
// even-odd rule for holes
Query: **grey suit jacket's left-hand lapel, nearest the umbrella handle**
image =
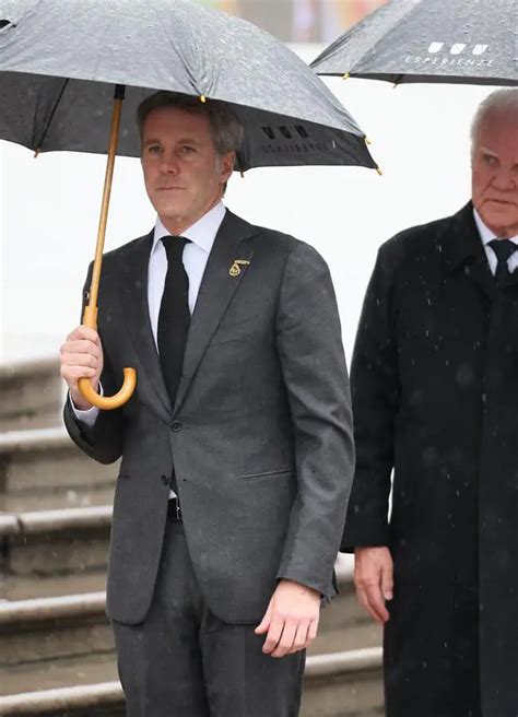
{"label": "grey suit jacket's left-hand lapel, nearest the umbrella handle", "polygon": [[152,242],[153,232],[129,247],[127,257],[119,262],[122,270],[120,299],[126,324],[140,360],[140,371],[145,373],[152,387],[150,403],[155,407],[161,418],[169,421],[172,407],[153,339],[148,304],[148,270]]}

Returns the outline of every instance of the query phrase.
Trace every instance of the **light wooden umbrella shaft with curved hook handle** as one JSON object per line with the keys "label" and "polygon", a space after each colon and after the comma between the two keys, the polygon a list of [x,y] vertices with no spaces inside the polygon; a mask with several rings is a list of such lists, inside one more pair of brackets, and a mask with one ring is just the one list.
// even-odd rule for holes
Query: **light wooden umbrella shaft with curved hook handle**
{"label": "light wooden umbrella shaft with curved hook handle", "polygon": [[[114,96],[114,113],[111,116],[111,128],[109,133],[108,161],[106,163],[106,177],[104,181],[103,203],[101,207],[99,227],[97,233],[97,246],[95,248],[95,260],[92,272],[92,285],[90,287],[89,305],[84,309],[83,324],[91,329],[97,330],[97,297],[101,280],[101,268],[103,266],[104,242],[106,237],[106,224],[108,221],[109,197],[111,193],[111,180],[114,177],[115,155],[119,138],[120,116],[125,98],[125,85],[116,85]],[[80,378],[79,390],[84,398],[98,409],[109,411],[118,409],[129,401],[137,386],[137,372],[134,368],[123,369],[125,380],[121,389],[115,396],[99,396],[92,388],[89,378]]]}

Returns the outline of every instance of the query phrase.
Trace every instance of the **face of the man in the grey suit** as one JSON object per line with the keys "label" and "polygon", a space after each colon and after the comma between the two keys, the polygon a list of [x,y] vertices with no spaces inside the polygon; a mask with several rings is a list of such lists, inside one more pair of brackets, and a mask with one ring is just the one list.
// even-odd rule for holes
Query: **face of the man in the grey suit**
{"label": "face of the man in the grey suit", "polygon": [[151,203],[164,226],[180,234],[219,201],[234,154],[216,154],[207,116],[161,107],[145,119],[141,161]]}

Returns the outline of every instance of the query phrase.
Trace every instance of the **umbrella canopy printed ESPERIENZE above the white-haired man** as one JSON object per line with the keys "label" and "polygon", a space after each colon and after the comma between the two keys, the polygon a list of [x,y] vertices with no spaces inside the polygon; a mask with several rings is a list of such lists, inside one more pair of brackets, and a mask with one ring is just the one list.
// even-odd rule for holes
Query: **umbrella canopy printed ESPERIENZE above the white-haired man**
{"label": "umbrella canopy printed ESPERIENZE above the white-haired man", "polygon": [[313,63],[319,74],[518,85],[517,0],[389,0]]}

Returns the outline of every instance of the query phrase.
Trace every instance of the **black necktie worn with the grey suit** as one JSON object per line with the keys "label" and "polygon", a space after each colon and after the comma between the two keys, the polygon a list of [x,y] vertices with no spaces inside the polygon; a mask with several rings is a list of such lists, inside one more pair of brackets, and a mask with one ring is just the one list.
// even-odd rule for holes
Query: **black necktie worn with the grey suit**
{"label": "black necktie worn with the grey suit", "polygon": [[189,278],[181,260],[189,239],[184,236],[164,236],[162,244],[167,254],[167,274],[158,314],[158,354],[172,407],[184,367],[187,334],[189,332]]}

